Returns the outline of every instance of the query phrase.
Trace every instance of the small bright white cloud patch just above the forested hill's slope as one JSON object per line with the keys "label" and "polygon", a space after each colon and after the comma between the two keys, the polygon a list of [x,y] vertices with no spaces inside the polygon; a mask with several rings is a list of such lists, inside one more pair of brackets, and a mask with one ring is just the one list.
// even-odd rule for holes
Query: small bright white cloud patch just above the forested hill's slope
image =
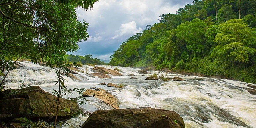
{"label": "small bright white cloud patch just above the forested hill's slope", "polygon": [[125,24],[121,24],[120,30],[117,30],[117,35],[115,35],[114,37],[112,37],[112,39],[116,39],[120,36],[123,35],[134,35],[136,33],[140,33],[142,32],[142,28],[138,28],[137,29],[137,24],[135,23],[135,21],[131,21]]}

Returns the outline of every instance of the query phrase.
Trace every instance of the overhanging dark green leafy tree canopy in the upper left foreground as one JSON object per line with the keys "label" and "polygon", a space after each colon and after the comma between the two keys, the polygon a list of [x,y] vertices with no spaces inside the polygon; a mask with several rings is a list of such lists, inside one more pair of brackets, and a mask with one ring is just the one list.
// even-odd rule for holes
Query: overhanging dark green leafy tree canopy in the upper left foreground
{"label": "overhanging dark green leafy tree canopy in the upper left foreground", "polygon": [[[88,23],[77,20],[75,8],[90,9],[96,1],[2,0],[0,60],[12,60],[22,55],[37,63],[41,59],[48,61],[52,54],[76,51],[77,43],[89,36],[86,32]],[[58,65],[47,64],[51,67]]]}

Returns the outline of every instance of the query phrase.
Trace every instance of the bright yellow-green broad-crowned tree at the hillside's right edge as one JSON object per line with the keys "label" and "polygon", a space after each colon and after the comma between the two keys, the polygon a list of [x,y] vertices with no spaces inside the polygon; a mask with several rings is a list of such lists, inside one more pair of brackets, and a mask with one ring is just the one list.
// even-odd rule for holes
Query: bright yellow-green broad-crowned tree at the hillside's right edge
{"label": "bright yellow-green broad-crowned tree at the hillside's right edge", "polygon": [[239,64],[255,62],[256,42],[255,33],[242,20],[232,19],[220,24],[214,42],[218,45],[213,49],[211,56],[222,60],[234,67]]}

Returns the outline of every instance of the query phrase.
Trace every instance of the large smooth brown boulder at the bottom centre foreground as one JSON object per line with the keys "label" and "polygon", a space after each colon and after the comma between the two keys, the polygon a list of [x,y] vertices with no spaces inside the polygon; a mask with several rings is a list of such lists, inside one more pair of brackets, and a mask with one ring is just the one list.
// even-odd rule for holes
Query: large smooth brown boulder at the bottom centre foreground
{"label": "large smooth brown boulder at the bottom centre foreground", "polygon": [[137,108],[95,111],[81,128],[185,128],[185,124],[174,111]]}

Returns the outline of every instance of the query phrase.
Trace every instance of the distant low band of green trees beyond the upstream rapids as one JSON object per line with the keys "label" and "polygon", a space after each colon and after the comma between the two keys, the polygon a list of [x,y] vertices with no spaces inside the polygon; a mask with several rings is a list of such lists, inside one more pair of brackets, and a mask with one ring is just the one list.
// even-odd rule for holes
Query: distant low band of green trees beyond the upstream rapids
{"label": "distant low band of green trees beyond the upstream rapids", "polygon": [[66,55],[66,58],[69,62],[76,62],[79,64],[103,64],[106,65],[105,62],[101,61],[100,59],[97,58],[92,58],[92,55],[85,55],[85,56],[79,56],[79,55]]}

